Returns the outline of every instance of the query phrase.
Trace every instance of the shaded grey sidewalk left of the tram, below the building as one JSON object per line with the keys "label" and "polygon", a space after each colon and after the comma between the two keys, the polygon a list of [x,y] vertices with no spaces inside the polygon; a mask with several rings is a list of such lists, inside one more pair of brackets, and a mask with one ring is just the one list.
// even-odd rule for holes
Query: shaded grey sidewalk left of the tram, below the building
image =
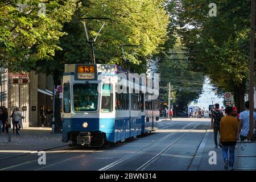
{"label": "shaded grey sidewalk left of the tram, below the building", "polygon": [[52,129],[47,127],[20,129],[19,136],[13,134],[12,129],[11,142],[8,142],[8,134],[0,135],[0,160],[8,156],[67,144],[61,142],[61,139],[62,134],[52,134]]}

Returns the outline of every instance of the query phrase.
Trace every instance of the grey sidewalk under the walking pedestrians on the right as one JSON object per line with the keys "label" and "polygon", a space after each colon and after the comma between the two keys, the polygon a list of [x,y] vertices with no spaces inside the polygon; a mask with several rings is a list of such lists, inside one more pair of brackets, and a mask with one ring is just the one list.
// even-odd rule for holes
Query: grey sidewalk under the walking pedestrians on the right
{"label": "grey sidewalk under the walking pedestrians on the right", "polygon": [[[218,139],[219,139],[218,135]],[[218,140],[217,139],[217,140]],[[199,149],[195,155],[195,158],[189,167],[189,171],[225,171],[224,169],[224,160],[222,158],[222,148],[214,148],[213,140],[213,130],[208,127],[207,133],[205,134],[204,139],[202,140]],[[209,159],[212,157],[212,151],[216,152],[216,164],[209,164]],[[209,153],[210,152],[210,153]],[[235,149],[235,158],[234,158],[234,170],[237,170],[237,147]],[[229,158],[229,152],[228,152]],[[212,158],[211,158],[212,159]],[[210,161],[213,161],[211,160]]]}

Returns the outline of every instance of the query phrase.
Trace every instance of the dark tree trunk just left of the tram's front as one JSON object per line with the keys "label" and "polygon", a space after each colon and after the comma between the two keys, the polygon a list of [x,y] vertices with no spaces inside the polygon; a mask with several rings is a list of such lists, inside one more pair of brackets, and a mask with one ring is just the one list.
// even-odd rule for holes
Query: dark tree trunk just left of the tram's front
{"label": "dark tree trunk just left of the tram's front", "polygon": [[[55,85],[55,88],[57,85],[61,85],[60,81],[60,75],[61,73],[59,71],[55,71],[53,73],[53,83]],[[54,88],[54,89],[55,89]],[[55,133],[61,133],[62,129],[62,122],[61,122],[61,116],[60,116],[60,99],[59,96],[55,96],[55,107],[54,107],[54,115],[55,115]]]}

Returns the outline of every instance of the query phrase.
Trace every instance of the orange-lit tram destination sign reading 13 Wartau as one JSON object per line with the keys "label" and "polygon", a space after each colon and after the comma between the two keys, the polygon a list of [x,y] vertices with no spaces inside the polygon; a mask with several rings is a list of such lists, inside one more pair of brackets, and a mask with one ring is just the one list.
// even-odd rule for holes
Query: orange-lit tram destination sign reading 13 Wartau
{"label": "orange-lit tram destination sign reading 13 Wartau", "polygon": [[97,64],[77,64],[76,80],[97,80]]}

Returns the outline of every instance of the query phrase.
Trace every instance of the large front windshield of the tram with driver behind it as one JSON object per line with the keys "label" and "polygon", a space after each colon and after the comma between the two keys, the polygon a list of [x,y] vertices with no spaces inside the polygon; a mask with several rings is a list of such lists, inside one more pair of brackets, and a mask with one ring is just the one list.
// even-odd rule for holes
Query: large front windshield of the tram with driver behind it
{"label": "large front windshield of the tram with driver behind it", "polygon": [[96,111],[98,108],[98,84],[73,84],[73,108],[76,112]]}

